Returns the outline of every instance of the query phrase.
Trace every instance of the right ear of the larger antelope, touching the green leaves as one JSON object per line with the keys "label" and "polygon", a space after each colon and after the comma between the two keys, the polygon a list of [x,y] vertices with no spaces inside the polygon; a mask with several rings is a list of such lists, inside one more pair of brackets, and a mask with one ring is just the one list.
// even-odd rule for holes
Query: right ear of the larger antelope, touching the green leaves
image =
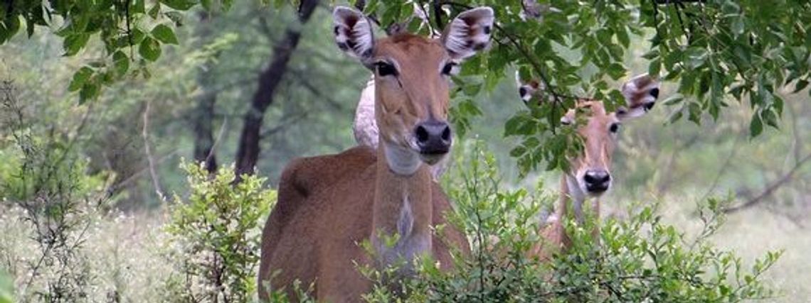
{"label": "right ear of the larger antelope, touching the green leaves", "polygon": [[473,56],[490,44],[494,19],[493,9],[488,6],[463,11],[445,27],[442,44],[453,59]]}

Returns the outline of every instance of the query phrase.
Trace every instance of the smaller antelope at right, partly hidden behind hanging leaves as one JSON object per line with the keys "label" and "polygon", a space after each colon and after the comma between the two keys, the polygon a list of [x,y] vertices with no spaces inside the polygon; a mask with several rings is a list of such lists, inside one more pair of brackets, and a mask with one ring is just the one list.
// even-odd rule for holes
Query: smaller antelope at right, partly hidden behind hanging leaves
{"label": "smaller antelope at right, partly hidden behind hanging leaves", "polygon": [[[534,254],[542,259],[550,256],[552,250],[572,245],[569,234],[564,229],[564,219],[574,218],[583,221],[585,217],[583,204],[586,200],[593,200],[590,208],[594,217],[599,217],[600,196],[603,195],[612,183],[611,154],[616,144],[616,135],[620,124],[631,118],[645,115],[654,107],[659,98],[659,82],[647,74],[639,75],[621,88],[625,97],[626,107],[620,107],[616,112],[606,112],[603,102],[593,99],[581,99],[577,102],[577,109],[570,109],[560,122],[564,125],[577,124],[577,112],[586,112],[588,116],[584,124],[573,125],[577,133],[583,138],[583,154],[569,161],[569,170],[564,172],[560,179],[560,200],[555,214],[548,218],[548,225],[542,230],[546,242],[535,247]],[[518,93],[525,103],[548,102],[547,92],[538,82],[521,85]],[[573,216],[573,217],[572,217]],[[594,234],[598,229],[594,229]]]}

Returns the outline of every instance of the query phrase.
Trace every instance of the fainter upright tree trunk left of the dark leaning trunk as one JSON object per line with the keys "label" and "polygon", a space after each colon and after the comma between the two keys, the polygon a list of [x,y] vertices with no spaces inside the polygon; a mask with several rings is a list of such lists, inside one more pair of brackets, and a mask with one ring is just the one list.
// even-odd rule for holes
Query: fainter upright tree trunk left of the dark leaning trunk
{"label": "fainter upright tree trunk left of the dark leaning trunk", "polygon": [[[197,36],[201,40],[208,41],[208,37],[212,35],[211,24],[209,24],[211,16],[207,12],[200,12],[200,31]],[[216,56],[219,56],[217,53]],[[202,91],[196,97],[195,109],[191,113],[193,130],[195,133],[195,162],[204,162],[205,169],[209,173],[217,171],[217,157],[214,154],[214,137],[213,137],[213,124],[214,124],[214,103],[217,103],[217,92],[212,90],[214,84],[213,64],[212,61],[207,61],[201,66],[200,74],[197,75],[197,85],[200,86]]]}

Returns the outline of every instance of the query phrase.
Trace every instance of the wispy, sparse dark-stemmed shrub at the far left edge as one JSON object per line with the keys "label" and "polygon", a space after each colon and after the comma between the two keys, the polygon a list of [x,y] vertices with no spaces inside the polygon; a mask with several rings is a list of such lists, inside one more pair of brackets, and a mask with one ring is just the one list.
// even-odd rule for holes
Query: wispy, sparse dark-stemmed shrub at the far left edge
{"label": "wispy, sparse dark-stemmed shrub at the far left edge", "polygon": [[7,217],[23,223],[35,246],[17,255],[18,247],[0,242],[2,269],[17,278],[20,301],[88,301],[95,277],[84,247],[93,218],[109,202],[107,174],[88,174],[76,148],[79,130],[37,126],[41,117],[19,103],[11,82],[0,86],[0,117],[11,117],[0,120],[8,131],[0,137],[0,217],[19,210]]}

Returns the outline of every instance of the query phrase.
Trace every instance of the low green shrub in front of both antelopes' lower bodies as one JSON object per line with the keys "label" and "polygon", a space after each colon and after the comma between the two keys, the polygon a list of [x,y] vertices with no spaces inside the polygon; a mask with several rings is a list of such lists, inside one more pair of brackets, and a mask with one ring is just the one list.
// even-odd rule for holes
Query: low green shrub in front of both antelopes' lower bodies
{"label": "low green shrub in front of both antelopes' lower bodies", "polygon": [[[407,295],[378,284],[367,301],[737,302],[771,295],[760,278],[780,253],[769,252],[744,269],[732,252],[706,241],[723,221],[719,200],[702,212],[708,214],[705,229],[693,240],[663,224],[655,206],[626,221],[601,223],[599,241],[591,233],[594,218],[581,225],[565,221],[573,247],[541,262],[528,251],[543,241],[538,210],[554,195],[501,187],[494,158],[481,144],[465,158],[445,188],[457,206],[450,221],[469,235],[470,255],[457,258],[454,271],[440,271],[430,258],[418,260],[418,277],[397,291]],[[363,272],[372,280],[385,276]]]}

